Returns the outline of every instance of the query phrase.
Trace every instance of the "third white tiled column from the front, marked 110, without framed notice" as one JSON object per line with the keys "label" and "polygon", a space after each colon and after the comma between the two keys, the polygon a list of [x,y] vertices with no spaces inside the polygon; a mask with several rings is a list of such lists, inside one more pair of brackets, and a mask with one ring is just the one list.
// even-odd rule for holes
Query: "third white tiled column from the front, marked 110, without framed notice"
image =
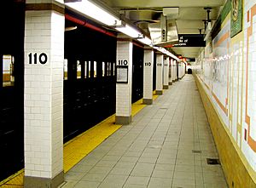
{"label": "third white tiled column from the front, marked 110, without framed notice", "polygon": [[146,105],[151,105],[153,102],[153,65],[154,51],[152,48],[145,48],[143,66],[143,103]]}

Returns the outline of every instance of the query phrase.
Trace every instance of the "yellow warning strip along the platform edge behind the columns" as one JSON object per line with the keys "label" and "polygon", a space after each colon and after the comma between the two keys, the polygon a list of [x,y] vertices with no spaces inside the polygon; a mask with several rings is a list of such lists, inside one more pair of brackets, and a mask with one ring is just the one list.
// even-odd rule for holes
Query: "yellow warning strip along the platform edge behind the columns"
{"label": "yellow warning strip along the platform edge behind the columns", "polygon": [[[153,100],[156,100],[158,95],[153,93]],[[143,104],[142,100],[137,100],[137,102],[131,105],[131,116],[134,117],[137,112],[143,110],[146,105]],[[106,140],[111,134],[117,131],[121,125],[114,124],[115,115],[108,117],[96,124],[96,126],[86,130],[83,134],[79,134],[72,140],[67,141],[63,146],[63,161],[64,161],[64,173],[85,156],[87,156],[90,151],[93,151],[96,146],[100,145],[102,141]],[[20,188],[23,187],[23,177],[24,169],[21,169],[16,174],[9,176],[9,178],[4,179],[0,182],[1,188]]]}

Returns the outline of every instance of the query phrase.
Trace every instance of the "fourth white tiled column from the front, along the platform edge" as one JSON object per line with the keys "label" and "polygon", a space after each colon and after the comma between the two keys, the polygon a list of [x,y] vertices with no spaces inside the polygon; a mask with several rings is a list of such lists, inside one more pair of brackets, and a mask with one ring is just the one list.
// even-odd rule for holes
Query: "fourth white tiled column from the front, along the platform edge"
{"label": "fourth white tiled column from the front, along the platform edge", "polygon": [[163,66],[164,66],[164,55],[156,54],[155,94],[163,94]]}

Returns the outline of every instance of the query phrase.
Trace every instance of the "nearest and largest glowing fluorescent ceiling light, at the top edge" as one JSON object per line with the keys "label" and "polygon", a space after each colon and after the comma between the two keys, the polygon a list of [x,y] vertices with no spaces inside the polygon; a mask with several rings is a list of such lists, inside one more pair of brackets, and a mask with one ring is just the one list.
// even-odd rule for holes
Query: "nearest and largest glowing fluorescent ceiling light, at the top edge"
{"label": "nearest and largest glowing fluorescent ceiling light, at the top edge", "polygon": [[102,9],[96,3],[91,3],[88,0],[81,0],[79,2],[65,3],[67,7],[79,11],[81,14],[85,14],[90,18],[100,21],[108,26],[117,26],[121,20],[119,18],[109,14],[108,11]]}

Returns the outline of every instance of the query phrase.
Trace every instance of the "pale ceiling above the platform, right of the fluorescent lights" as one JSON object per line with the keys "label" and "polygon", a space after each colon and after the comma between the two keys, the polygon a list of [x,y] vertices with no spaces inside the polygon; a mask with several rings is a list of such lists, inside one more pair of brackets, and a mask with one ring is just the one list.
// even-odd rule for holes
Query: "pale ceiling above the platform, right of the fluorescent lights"
{"label": "pale ceiling above the platform, right of the fluorescent lights", "polygon": [[[176,20],[178,34],[204,33],[207,9],[210,20],[216,20],[219,10],[226,0],[102,0],[109,7],[123,14],[126,19],[147,31],[147,25],[159,22],[166,8],[178,8],[178,13],[167,15],[168,20]],[[172,52],[183,57],[197,57],[200,47],[173,47]]]}

